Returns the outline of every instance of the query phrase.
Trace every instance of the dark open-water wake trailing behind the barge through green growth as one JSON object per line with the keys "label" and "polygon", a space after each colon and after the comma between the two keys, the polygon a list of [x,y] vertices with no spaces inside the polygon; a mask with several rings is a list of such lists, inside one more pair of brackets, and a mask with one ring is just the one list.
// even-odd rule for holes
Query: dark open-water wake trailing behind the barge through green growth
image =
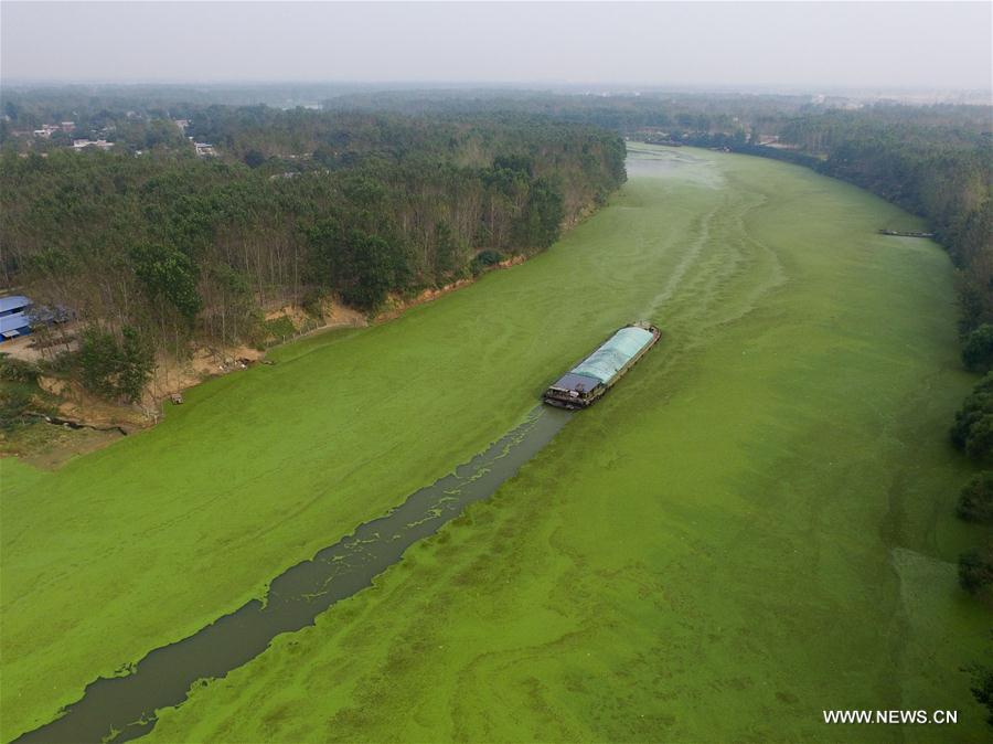
{"label": "dark open-water wake trailing behind the barge through green growth", "polygon": [[15,744],[107,738],[117,743],[147,734],[156,725],[156,709],[182,703],[197,680],[224,677],[261,653],[276,636],[313,625],[335,602],[370,586],[407,548],[495,491],[570,416],[559,408],[535,408],[523,424],[453,474],[274,578],[265,603],[253,599],[189,638],[154,649],[126,677],[92,682],[61,718]]}

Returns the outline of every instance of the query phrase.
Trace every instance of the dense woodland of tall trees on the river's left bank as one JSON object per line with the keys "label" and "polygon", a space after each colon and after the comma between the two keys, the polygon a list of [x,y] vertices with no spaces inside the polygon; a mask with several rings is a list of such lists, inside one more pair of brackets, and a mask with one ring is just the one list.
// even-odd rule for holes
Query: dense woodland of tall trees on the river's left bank
{"label": "dense woodland of tall trees on the river's left bank", "polygon": [[191,128],[221,157],[6,147],[3,284],[182,353],[252,341],[266,307],[373,310],[540,251],[626,178],[617,135],[533,117],[212,107]]}

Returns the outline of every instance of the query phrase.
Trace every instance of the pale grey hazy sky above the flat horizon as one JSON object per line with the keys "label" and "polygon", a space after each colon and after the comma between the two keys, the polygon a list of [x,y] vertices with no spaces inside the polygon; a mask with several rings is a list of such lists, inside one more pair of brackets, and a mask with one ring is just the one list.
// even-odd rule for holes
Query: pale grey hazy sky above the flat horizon
{"label": "pale grey hazy sky above the flat horizon", "polygon": [[6,81],[991,87],[990,2],[0,3]]}

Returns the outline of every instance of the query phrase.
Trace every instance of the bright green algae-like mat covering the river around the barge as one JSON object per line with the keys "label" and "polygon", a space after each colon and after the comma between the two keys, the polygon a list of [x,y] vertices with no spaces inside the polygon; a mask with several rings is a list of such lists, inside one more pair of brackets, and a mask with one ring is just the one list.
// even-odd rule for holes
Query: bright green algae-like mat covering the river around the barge
{"label": "bright green algae-like mat covering the river around the barge", "polygon": [[152,738],[982,735],[947,257],[876,235],[916,222],[845,184],[675,157],[523,266],[286,347],[56,474],[0,465],[4,741],[467,460],[641,317],[663,342],[517,478]]}

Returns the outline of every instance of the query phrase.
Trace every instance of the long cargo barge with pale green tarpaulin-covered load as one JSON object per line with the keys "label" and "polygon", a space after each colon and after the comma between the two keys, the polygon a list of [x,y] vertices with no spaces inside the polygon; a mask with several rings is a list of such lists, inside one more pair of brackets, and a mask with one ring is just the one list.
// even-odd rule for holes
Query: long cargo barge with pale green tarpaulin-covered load
{"label": "long cargo barge with pale green tarpaulin-covered load", "polygon": [[624,326],[552,384],[542,400],[548,405],[573,411],[592,405],[661,336],[658,328],[645,321]]}

